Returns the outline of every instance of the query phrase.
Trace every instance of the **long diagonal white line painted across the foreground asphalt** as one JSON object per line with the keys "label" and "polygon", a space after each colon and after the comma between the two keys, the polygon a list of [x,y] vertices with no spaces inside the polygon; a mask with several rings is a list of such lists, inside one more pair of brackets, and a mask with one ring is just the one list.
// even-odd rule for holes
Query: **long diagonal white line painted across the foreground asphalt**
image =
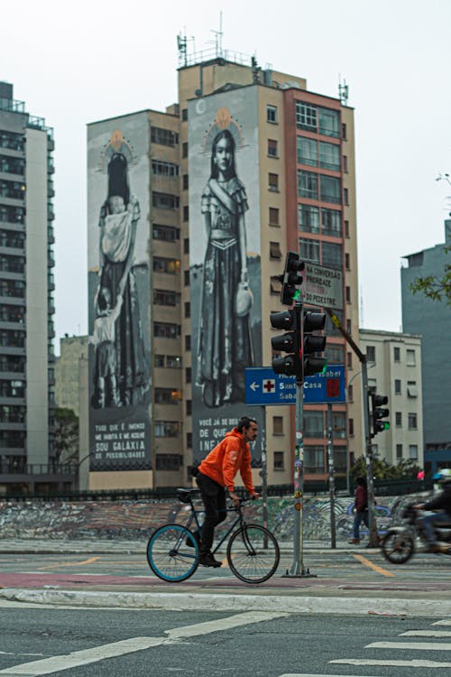
{"label": "long diagonal white line painted across the foreground asphalt", "polygon": [[197,623],[193,626],[174,627],[171,630],[165,631],[165,635],[168,635],[167,637],[131,637],[121,642],[95,646],[92,649],[75,651],[67,655],[52,656],[51,658],[44,658],[41,661],[12,665],[9,668],[0,670],[0,674],[10,675],[10,677],[20,677],[20,675],[23,675],[23,677],[37,677],[42,674],[51,674],[51,672],[69,670],[70,668],[87,665],[88,663],[97,663],[105,658],[133,654],[135,651],[143,651],[152,646],[174,644],[182,637],[207,635],[219,630],[227,630],[232,627],[260,623],[261,621],[285,616],[288,616],[288,614],[284,612],[250,611],[227,618],[218,618],[215,621]]}

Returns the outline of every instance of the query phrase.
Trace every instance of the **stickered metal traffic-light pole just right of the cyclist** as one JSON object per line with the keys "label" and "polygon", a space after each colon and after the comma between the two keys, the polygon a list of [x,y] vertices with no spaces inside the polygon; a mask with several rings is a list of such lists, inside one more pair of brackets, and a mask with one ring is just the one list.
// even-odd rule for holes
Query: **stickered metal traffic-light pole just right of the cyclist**
{"label": "stickered metal traffic-light pole just right of the cyclist", "polygon": [[[302,320],[303,303],[301,299],[295,301],[295,310],[298,313],[299,321]],[[301,339],[300,339],[301,340]],[[287,570],[285,577],[295,578],[316,578],[305,567],[303,561],[304,552],[304,439],[302,435],[303,427],[303,404],[304,388],[301,381],[296,381],[296,446],[294,451],[294,543],[293,543],[293,561],[290,573]]]}

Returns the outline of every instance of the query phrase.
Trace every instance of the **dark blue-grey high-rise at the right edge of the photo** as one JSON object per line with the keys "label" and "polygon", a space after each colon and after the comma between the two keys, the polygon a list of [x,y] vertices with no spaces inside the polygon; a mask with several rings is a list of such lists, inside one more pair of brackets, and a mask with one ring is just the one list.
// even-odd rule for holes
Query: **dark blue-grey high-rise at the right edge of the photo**
{"label": "dark blue-grey high-rise at the right edge of the photo", "polygon": [[445,243],[406,255],[400,269],[402,329],[421,335],[423,425],[425,462],[451,467],[451,378],[449,355],[451,313],[446,300],[431,301],[422,292],[413,294],[410,284],[429,275],[441,278],[449,263],[451,219],[445,221]]}

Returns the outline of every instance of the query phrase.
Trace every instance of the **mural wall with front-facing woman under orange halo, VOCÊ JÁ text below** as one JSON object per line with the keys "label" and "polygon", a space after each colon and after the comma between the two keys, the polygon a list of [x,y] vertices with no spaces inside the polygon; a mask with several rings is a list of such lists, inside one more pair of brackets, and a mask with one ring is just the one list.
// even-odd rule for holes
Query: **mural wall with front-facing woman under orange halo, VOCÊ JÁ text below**
{"label": "mural wall with front-facing woman under orange halo, VOC\u00ca J\u00c1 text below", "polygon": [[[246,413],[245,368],[262,364],[257,88],[190,101],[188,120],[192,416],[198,460]],[[247,413],[260,415],[259,410]],[[254,462],[259,455],[253,450]]]}

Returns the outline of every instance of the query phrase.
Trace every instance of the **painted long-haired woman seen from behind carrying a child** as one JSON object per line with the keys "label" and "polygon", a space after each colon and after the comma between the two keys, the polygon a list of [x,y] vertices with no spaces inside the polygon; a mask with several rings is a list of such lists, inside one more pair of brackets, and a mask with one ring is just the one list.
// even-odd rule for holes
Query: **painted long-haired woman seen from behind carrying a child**
{"label": "painted long-haired woman seen from behind carrying a child", "polygon": [[[133,274],[133,249],[140,218],[138,199],[130,193],[127,161],[114,153],[108,162],[108,190],[100,209],[99,290],[108,290],[111,307],[122,297],[115,320],[116,384],[115,401],[104,406],[129,406],[143,401],[146,390],[143,326]],[[98,292],[97,292],[98,298]],[[96,299],[97,305],[97,299]],[[97,384],[97,374],[94,376]],[[97,388],[93,403],[97,407]]]}

